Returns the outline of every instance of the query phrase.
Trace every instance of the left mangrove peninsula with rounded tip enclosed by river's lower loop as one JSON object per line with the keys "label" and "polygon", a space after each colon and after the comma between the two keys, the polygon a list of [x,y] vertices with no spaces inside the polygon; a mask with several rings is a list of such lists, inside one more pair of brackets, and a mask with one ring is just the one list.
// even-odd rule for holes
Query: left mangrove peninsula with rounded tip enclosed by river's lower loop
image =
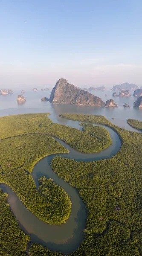
{"label": "left mangrove peninsula with rounded tip enclosed by river's lower loop", "polygon": [[[30,211],[49,224],[61,224],[67,220],[70,215],[70,199],[58,186],[56,192],[51,188],[49,192],[55,194],[56,198],[58,193],[56,204],[47,199],[41,189],[36,189],[28,172],[32,172],[35,163],[41,158],[61,152],[69,151],[44,134],[27,134],[0,141],[0,181],[8,184]],[[61,192],[64,196],[61,196]]]}

